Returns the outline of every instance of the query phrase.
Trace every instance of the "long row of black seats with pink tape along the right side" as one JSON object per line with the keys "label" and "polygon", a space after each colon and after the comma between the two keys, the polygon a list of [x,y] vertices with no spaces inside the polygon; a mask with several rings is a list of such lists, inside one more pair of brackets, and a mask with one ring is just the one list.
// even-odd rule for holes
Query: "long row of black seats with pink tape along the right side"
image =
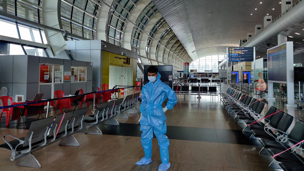
{"label": "long row of black seats with pink tape along the right side", "polygon": [[297,120],[290,133],[287,133],[294,119],[293,116],[274,106],[271,106],[263,116],[262,102],[247,95],[240,96],[240,93],[232,88],[227,92],[221,92],[220,95],[228,113],[235,115],[235,119],[239,120],[240,124],[246,124],[243,132],[252,133],[250,139],[258,139],[263,146],[259,154],[274,156],[282,152],[274,157],[269,164],[270,168],[285,171],[304,170],[304,158],[301,156],[304,152],[303,143],[296,145],[304,139],[302,120]]}

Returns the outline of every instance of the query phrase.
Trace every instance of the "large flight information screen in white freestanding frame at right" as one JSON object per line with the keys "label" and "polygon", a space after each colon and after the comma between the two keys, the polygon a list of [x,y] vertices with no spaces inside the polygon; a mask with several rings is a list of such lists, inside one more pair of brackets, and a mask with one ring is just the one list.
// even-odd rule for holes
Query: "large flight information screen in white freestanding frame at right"
{"label": "large flight information screen in white freestanding frame at right", "polygon": [[267,51],[268,81],[287,82],[286,44]]}

